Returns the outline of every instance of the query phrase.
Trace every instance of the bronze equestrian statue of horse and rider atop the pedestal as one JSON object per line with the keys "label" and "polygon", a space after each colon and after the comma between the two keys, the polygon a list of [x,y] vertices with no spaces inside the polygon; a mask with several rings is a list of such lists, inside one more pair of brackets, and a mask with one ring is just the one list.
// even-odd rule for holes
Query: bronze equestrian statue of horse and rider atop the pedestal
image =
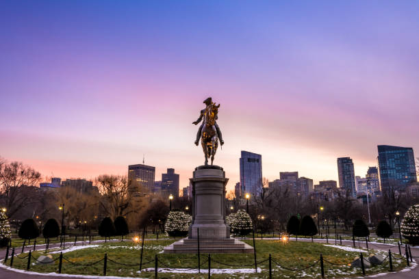
{"label": "bronze equestrian statue of horse and rider atop the pedestal", "polygon": [[223,145],[223,135],[221,135],[220,127],[216,120],[218,119],[218,107],[212,103],[212,98],[207,98],[203,103],[206,105],[205,109],[201,110],[201,115],[198,120],[192,122],[192,124],[199,124],[202,120],[202,124],[196,133],[195,145],[199,144],[199,138],[201,138],[201,146],[205,155],[205,165],[208,165],[208,157],[211,157],[211,165],[214,161],[214,156],[218,148],[218,139],[220,144]]}

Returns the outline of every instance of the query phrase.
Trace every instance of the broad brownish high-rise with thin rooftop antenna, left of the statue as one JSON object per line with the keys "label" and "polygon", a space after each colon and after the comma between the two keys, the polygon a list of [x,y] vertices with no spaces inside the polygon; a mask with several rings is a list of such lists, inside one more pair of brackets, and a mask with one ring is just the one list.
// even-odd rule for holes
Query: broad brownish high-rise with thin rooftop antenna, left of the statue
{"label": "broad brownish high-rise with thin rooftop antenna, left of the statue", "polygon": [[154,189],[155,167],[128,165],[128,185],[131,194],[148,194]]}

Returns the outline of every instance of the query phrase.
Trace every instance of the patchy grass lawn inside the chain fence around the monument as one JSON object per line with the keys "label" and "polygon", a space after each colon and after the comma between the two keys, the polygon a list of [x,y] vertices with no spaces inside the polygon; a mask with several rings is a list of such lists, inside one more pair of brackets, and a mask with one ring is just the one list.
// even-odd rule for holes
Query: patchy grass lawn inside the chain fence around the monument
{"label": "patchy grass lawn inside the chain fence around the monument", "polygon": [[[198,265],[198,257],[196,254],[161,254],[164,246],[173,243],[173,239],[159,240],[159,241],[144,241],[143,250],[143,265],[142,269],[153,268],[154,262],[152,261],[155,254],[157,254],[159,267],[170,268],[192,268],[196,269]],[[247,243],[252,245],[251,240],[246,240]],[[93,244],[93,243],[92,243]],[[114,242],[114,243],[97,243],[96,247],[84,248],[81,250],[74,250],[65,252],[64,258],[71,261],[63,261],[62,273],[64,274],[89,274],[89,275],[103,275],[103,261],[96,265],[89,266],[89,263],[94,263],[103,258],[107,253],[107,275],[108,276],[129,276],[129,277],[142,277],[153,278],[153,271],[142,271],[138,274],[140,263],[141,245],[132,242]],[[329,245],[332,245],[330,243]],[[359,248],[357,248],[359,249]],[[339,277],[355,277],[361,276],[361,269],[349,267],[347,264],[351,263],[355,256],[359,256],[359,252],[346,251],[334,247],[329,247],[321,243],[299,242],[290,241],[283,243],[277,240],[257,240],[257,262],[262,262],[268,259],[269,254],[272,256],[272,276],[274,278],[315,278],[320,277],[320,263],[305,271],[290,271],[290,269],[303,269],[312,265],[319,260],[320,254],[323,255],[325,260],[341,265],[331,265],[325,262],[325,275],[327,278]],[[362,249],[363,250],[363,249]],[[60,250],[56,250],[59,252]],[[363,254],[368,256],[366,250]],[[51,252],[53,252],[51,250]],[[371,250],[370,250],[371,253]],[[18,255],[19,257],[25,254]],[[35,258],[45,254],[43,251],[34,252]],[[377,252],[383,256],[387,256],[385,252]],[[60,254],[51,254],[53,258],[58,258]],[[396,255],[398,256],[398,255]],[[207,270],[206,263],[208,258],[207,254],[201,254],[201,269]],[[253,254],[212,254],[212,269],[225,269],[225,268],[249,268],[254,269]],[[114,263],[118,262],[118,263]],[[122,265],[122,264],[123,265]],[[278,267],[279,263],[282,267]],[[8,261],[10,264],[10,260]],[[83,266],[82,266],[83,265]],[[400,270],[405,267],[405,260],[393,258],[393,265],[395,270]],[[19,269],[26,269],[27,258],[14,258],[13,267]],[[262,272],[258,274],[212,274],[213,278],[268,278],[268,261],[259,263],[259,268]],[[387,272],[389,269],[388,261],[383,265],[375,265],[370,269],[366,269],[367,275],[378,274]],[[31,271],[38,272],[57,272],[58,260],[51,265],[35,265],[34,259],[31,260]],[[175,274],[175,273],[159,273],[159,278],[207,278],[207,274]]]}

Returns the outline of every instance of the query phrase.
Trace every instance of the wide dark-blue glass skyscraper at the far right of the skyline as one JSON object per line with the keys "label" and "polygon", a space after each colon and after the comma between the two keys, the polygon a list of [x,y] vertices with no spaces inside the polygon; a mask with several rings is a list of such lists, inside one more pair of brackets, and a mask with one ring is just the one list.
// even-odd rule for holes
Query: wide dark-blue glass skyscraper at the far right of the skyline
{"label": "wide dark-blue glass skyscraper at the far right of the skyline", "polygon": [[418,181],[413,148],[379,145],[378,152],[381,191]]}

